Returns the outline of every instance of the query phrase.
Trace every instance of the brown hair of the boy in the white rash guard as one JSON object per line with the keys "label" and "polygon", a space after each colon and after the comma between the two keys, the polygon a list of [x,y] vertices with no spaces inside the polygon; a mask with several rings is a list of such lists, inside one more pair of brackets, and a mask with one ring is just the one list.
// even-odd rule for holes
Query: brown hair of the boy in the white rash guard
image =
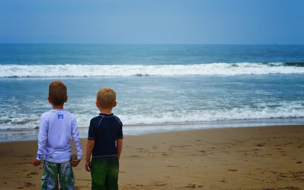
{"label": "brown hair of the boy in the white rash guard", "polygon": [[49,86],[49,97],[54,105],[63,105],[66,100],[66,86],[61,81],[53,81]]}

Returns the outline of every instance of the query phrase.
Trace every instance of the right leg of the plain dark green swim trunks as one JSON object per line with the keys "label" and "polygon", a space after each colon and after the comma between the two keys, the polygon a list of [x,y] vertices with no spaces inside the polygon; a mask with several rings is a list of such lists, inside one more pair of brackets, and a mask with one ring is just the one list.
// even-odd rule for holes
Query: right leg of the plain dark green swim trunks
{"label": "right leg of the plain dark green swim trunks", "polygon": [[119,163],[117,157],[108,157],[108,172],[106,177],[106,190],[118,190]]}

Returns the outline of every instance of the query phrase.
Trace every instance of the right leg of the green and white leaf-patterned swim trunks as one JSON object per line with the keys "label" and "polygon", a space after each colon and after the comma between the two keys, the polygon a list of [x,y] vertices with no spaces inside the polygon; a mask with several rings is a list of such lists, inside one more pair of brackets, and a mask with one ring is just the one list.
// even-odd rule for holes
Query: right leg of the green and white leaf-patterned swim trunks
{"label": "right leg of the green and white leaf-patterned swim trunks", "polygon": [[60,190],[71,190],[75,188],[74,173],[70,161],[60,163],[59,183]]}

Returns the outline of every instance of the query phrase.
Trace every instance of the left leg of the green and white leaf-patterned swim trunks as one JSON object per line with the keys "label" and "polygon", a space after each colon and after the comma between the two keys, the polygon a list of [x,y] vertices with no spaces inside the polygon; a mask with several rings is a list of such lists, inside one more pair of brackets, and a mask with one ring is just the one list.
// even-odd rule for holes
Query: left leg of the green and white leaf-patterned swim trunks
{"label": "left leg of the green and white leaf-patterned swim trunks", "polygon": [[44,161],[42,174],[42,190],[58,190],[59,164]]}

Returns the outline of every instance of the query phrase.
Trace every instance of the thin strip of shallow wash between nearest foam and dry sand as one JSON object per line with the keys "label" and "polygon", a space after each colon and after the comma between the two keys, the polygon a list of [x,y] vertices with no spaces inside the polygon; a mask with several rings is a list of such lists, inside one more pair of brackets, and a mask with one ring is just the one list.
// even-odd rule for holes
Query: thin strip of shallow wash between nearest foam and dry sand
{"label": "thin strip of shallow wash between nearest foam and dry sand", "polygon": [[[304,118],[274,118],[259,120],[227,120],[210,122],[189,122],[189,123],[165,123],[165,124],[145,124],[124,126],[124,135],[144,135],[162,132],[188,131],[201,129],[225,129],[225,128],[247,128],[247,127],[267,127],[303,125]],[[89,127],[79,127],[81,138],[87,138]],[[39,129],[1,129],[0,143],[13,141],[29,141],[38,139]]]}

